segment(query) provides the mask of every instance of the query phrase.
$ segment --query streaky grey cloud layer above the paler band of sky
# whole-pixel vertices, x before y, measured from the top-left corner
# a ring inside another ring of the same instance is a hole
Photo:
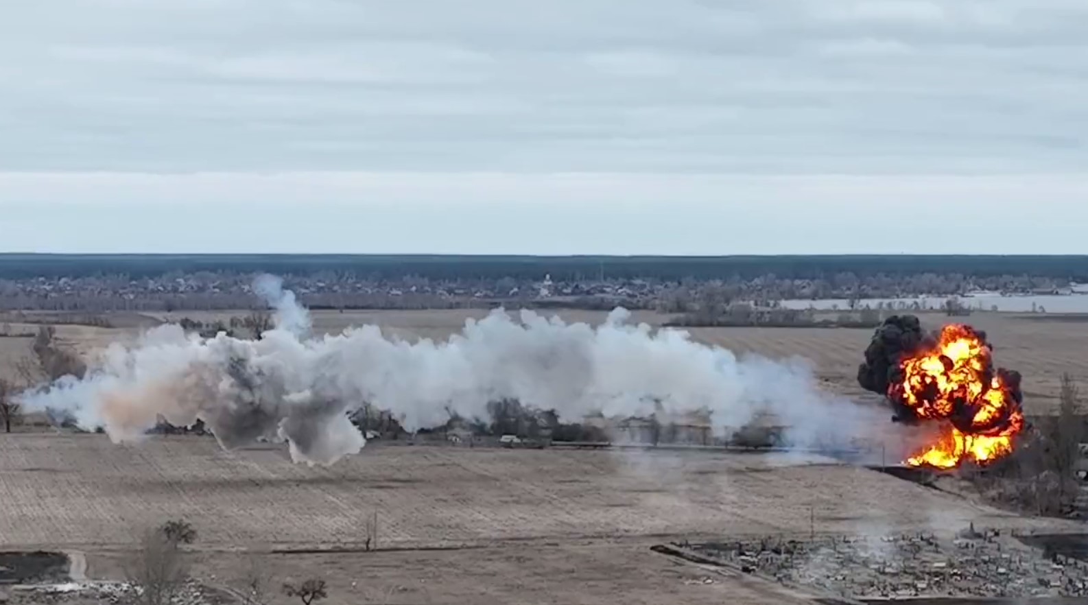
[[[1000,173],[1088,160],[1073,0],[38,0],[0,170]]]

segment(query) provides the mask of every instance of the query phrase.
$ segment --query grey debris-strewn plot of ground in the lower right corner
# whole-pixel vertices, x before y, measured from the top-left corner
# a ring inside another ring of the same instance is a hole
[[[1088,563],[997,531],[764,538],[689,548],[744,572],[850,598],[1088,596]]]

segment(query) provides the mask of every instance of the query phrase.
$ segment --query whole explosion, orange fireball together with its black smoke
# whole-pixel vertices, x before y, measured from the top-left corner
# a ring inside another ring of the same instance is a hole
[[[865,388],[885,393],[895,420],[944,423],[941,437],[910,456],[910,466],[950,469],[990,464],[1012,453],[1024,428],[1019,373],[994,369],[986,333],[951,324],[925,335],[917,318],[891,317],[858,369]]]

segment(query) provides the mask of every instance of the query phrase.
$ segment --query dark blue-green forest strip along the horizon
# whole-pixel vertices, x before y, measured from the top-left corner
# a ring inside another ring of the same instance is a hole
[[[0,254],[0,279],[128,275],[153,277],[171,272],[265,271],[281,275],[318,271],[350,273],[367,279],[418,275],[431,280],[652,279],[680,281],[774,275],[817,280],[839,273],[916,275],[1035,275],[1088,282],[1088,256],[440,256],[440,255],[25,255]]]

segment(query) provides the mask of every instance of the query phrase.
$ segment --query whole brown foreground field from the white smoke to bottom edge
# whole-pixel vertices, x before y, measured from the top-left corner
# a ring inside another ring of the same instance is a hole
[[[88,576],[108,578],[135,529],[184,518],[199,534],[200,577],[230,583],[248,550],[277,579],[326,577],[331,603],[800,604],[808,601],[781,587],[648,546],[954,532],[968,522],[1072,527],[876,471],[765,454],[375,445],[308,468],[282,447],[224,453],[208,437],[118,446],[102,435],[15,434],[0,435],[0,550],[83,552]],[[374,513],[382,552],[361,552]],[[322,550],[342,552],[298,552]]]

